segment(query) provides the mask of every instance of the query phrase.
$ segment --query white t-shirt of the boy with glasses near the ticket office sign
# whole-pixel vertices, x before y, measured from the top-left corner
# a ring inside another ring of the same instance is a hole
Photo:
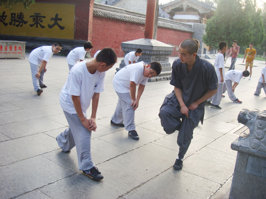
[[[31,51],[29,62],[40,65],[42,60],[48,62],[53,55],[52,46],[41,46]]]

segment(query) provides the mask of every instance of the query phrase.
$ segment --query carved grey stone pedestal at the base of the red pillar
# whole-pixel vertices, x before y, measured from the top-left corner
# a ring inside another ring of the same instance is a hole
[[[128,42],[122,42],[121,47],[125,52],[125,55],[131,51],[136,51],[138,48],[142,49],[143,52],[139,57],[138,62],[143,61],[148,64],[157,61],[161,64],[162,72],[156,77],[149,78],[149,82],[171,79],[172,67],[169,63],[169,56],[173,52],[173,46],[152,39],[137,39]],[[116,68],[116,71],[119,71],[124,66],[125,62],[122,60],[119,68]]]

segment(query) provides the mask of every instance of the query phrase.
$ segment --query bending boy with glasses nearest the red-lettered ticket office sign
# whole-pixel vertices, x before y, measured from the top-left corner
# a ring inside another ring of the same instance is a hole
[[[46,72],[46,64],[51,59],[53,53],[58,53],[62,49],[59,42],[54,43],[52,46],[41,46],[31,51],[29,56],[32,83],[34,91],[40,95],[47,86],[43,83],[43,75]]]

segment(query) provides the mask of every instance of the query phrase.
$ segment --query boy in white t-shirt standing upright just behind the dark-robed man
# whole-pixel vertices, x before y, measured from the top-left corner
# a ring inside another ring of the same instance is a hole
[[[223,53],[227,50],[227,43],[226,42],[220,42],[219,43],[219,49],[220,52],[216,55],[215,61],[214,61],[214,68],[218,77],[218,84],[219,87],[217,89],[217,93],[215,93],[214,96],[209,98],[207,100],[206,105],[210,105],[211,108],[221,109],[219,104],[221,103],[221,99],[223,96],[223,90],[224,90],[224,57]]]

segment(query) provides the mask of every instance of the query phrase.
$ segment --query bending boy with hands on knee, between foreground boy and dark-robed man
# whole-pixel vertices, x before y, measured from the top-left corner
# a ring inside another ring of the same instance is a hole
[[[125,126],[132,139],[140,139],[135,126],[135,110],[149,78],[161,73],[159,62],[145,64],[138,62],[121,68],[113,78],[113,88],[119,99],[116,110],[111,117],[111,124]],[[137,98],[136,86],[139,85]],[[124,122],[124,124],[123,124]]]

